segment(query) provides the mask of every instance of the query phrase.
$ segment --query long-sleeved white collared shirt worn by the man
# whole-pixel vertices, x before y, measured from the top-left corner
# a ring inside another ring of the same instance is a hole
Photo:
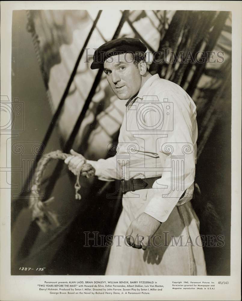
[[[192,198],[197,137],[195,103],[179,85],[155,74],[127,103],[115,156],[87,162],[105,181],[161,176],[144,212],[165,222],[176,205]]]

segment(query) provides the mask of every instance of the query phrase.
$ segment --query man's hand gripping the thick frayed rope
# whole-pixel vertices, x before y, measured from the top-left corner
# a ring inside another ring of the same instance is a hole
[[[94,167],[89,163],[85,163],[86,159],[81,154],[78,154],[73,150],[71,150],[70,153],[72,156],[67,157],[65,163],[68,165],[69,170],[74,173],[74,175],[78,174],[78,171],[81,167],[81,176],[86,176],[89,178],[95,175]]]

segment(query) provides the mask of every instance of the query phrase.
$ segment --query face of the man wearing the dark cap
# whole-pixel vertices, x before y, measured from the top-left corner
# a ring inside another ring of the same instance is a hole
[[[104,62],[104,72],[113,92],[119,99],[129,99],[139,92],[142,76],[133,63],[130,53],[109,57]]]

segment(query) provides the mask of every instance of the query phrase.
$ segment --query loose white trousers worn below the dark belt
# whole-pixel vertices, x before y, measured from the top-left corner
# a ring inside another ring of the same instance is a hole
[[[175,206],[146,250],[127,245],[126,231],[143,212],[152,197],[152,189],[142,189],[138,193],[139,197],[133,197],[132,192],[123,196],[123,210],[105,275],[206,275],[199,220],[191,202]]]

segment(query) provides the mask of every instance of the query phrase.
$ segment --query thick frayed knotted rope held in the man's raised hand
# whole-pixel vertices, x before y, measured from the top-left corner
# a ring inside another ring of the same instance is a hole
[[[59,226],[59,222],[57,219],[57,214],[47,209],[47,206],[54,201],[54,197],[49,198],[46,201],[42,201],[44,194],[42,193],[42,184],[43,184],[43,174],[46,169],[47,164],[52,159],[60,159],[65,160],[67,157],[71,156],[71,154],[65,154],[62,151],[53,151],[48,154],[44,154],[39,160],[36,171],[35,171],[35,185],[32,187],[32,192],[29,199],[29,208],[32,210],[32,220],[36,221],[38,226],[42,231],[46,232],[47,228],[56,228]],[[81,188],[79,177],[81,174],[81,170],[84,166],[87,166],[86,159],[83,158],[84,164],[80,167],[77,173],[77,178],[75,182],[75,198],[76,200],[81,200],[81,194],[79,194],[79,190]],[[89,165],[89,164],[88,164]],[[88,177],[87,172],[87,177]],[[92,174],[91,174],[92,175]]]

